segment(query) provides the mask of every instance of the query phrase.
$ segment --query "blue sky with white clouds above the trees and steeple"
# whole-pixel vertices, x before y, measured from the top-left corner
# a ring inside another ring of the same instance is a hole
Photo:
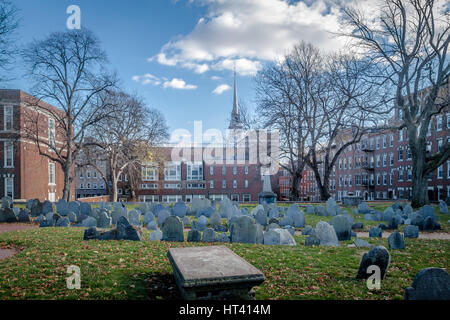
[[[352,2],[356,0],[342,0]],[[368,14],[376,0],[358,1]],[[21,44],[66,28],[66,8],[81,8],[81,25],[107,52],[124,87],[160,109],[171,130],[225,129],[238,93],[255,106],[253,77],[299,41],[335,50],[339,11],[328,0],[13,0],[21,10]],[[20,65],[11,88],[28,90]]]

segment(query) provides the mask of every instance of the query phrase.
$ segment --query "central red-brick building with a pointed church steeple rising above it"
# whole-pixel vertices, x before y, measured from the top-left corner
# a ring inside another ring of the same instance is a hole
[[[258,201],[263,181],[261,167],[251,159],[253,154],[251,154],[250,143],[255,142],[252,141],[255,137],[245,135],[237,101],[235,75],[229,132],[232,137],[239,137],[240,141],[245,141],[242,146],[236,144],[231,151],[223,146],[217,147],[212,155],[214,161],[197,160],[198,157],[195,157],[197,152],[202,155],[207,153],[207,148],[211,146],[186,147],[177,154],[178,160],[172,157],[173,146],[161,147],[158,158],[162,161],[141,164],[140,179],[134,182],[135,186],[133,186],[137,200],[169,203],[178,200],[191,202],[193,198],[207,197],[220,200],[228,197],[240,202]],[[258,139],[259,133],[256,136],[256,144]],[[267,148],[270,152],[270,143]],[[104,191],[101,187],[104,186],[105,181],[98,180],[98,173],[94,177],[94,171],[96,170],[92,167],[83,169],[77,167],[76,193],[78,196],[99,195]],[[130,184],[129,177],[126,174],[121,175],[118,182],[119,199],[130,200]],[[98,188],[94,189],[95,186]],[[272,188],[277,191],[277,175],[272,176]]]

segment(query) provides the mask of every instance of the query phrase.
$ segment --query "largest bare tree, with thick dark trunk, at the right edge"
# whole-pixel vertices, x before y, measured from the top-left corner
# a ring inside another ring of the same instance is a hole
[[[428,203],[428,175],[450,155],[448,141],[436,153],[427,152],[427,130],[449,105],[450,42],[448,7],[434,0],[384,0],[378,15],[365,17],[344,7],[344,35],[354,40],[378,71],[373,81],[392,87],[393,103],[372,109],[400,115],[389,129],[407,129],[412,154],[412,206]]]

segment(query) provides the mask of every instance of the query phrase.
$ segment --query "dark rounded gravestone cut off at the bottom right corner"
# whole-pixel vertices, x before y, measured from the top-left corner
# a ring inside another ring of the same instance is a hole
[[[450,300],[450,275],[440,268],[420,270],[406,288],[405,300]]]

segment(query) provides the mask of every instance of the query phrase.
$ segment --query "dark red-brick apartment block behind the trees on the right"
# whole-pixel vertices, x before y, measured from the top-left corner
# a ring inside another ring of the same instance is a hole
[[[442,89],[448,95],[450,84]],[[398,112],[390,123],[398,122]],[[408,147],[407,129],[373,130],[361,138],[359,143],[349,146],[339,157],[330,177],[330,193],[336,200],[354,195],[366,200],[410,200],[412,197],[412,155]],[[428,128],[427,152],[436,153],[450,142],[450,109],[434,116]],[[312,176],[306,168],[303,177]],[[312,176],[313,177],[313,176]],[[280,177],[280,185],[285,177]],[[320,199],[314,178],[303,179],[301,197],[304,200]],[[284,196],[289,196],[289,185],[283,181]],[[311,191],[313,194],[311,194]],[[430,201],[450,199],[450,159],[429,175],[428,198]],[[315,193],[315,194],[314,194]]]

